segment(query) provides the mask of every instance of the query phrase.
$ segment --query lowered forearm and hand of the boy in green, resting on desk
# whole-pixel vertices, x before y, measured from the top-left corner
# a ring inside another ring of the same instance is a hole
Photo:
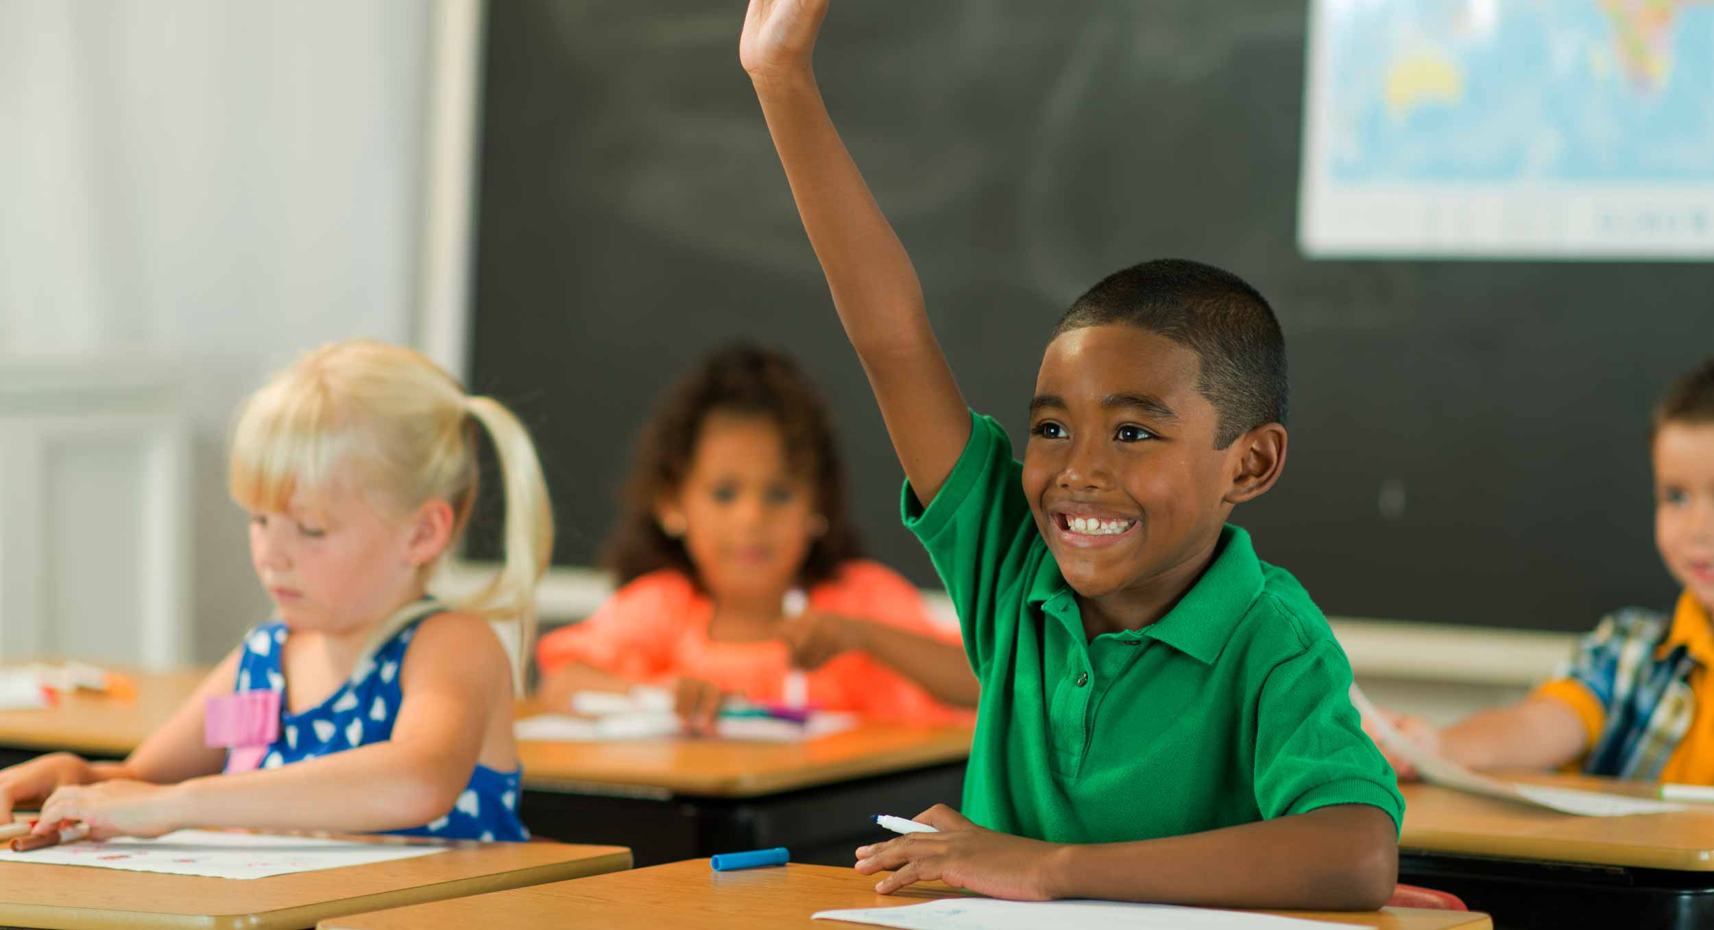
[[[1399,880],[1387,812],[1335,805],[1238,827],[1136,842],[1061,844],[977,827],[944,805],[938,827],[857,849],[857,872],[896,870],[876,891],[939,879],[991,897],[1092,897],[1214,908],[1371,911]]]

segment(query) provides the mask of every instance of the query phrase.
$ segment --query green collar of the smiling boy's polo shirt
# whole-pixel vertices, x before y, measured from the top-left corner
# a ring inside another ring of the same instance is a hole
[[[1119,637],[1159,640],[1212,666],[1226,650],[1239,618],[1250,613],[1250,606],[1262,595],[1262,561],[1250,544],[1250,534],[1243,527],[1227,523],[1220,530],[1220,542],[1215,544],[1208,570],[1167,611],[1167,616],[1140,630],[1126,630]],[[1076,626],[1078,637],[1083,635],[1076,592],[1066,583],[1052,558],[1042,559],[1042,570],[1030,580],[1025,601],[1040,606],[1068,626]]]

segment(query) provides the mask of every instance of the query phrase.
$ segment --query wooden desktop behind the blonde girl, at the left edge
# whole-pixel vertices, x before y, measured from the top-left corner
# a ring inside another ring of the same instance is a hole
[[[137,685],[134,700],[77,691],[63,695],[58,707],[0,710],[0,767],[57,750],[122,758],[166,722],[207,673],[209,669],[125,673]]]

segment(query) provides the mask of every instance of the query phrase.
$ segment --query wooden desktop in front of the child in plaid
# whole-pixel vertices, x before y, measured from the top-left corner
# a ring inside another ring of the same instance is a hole
[[[1657,786],[1594,776],[1508,774],[1560,788],[1654,796]],[[1431,784],[1405,784],[1402,849],[1714,872],[1714,805],[1675,813],[1577,817]]]

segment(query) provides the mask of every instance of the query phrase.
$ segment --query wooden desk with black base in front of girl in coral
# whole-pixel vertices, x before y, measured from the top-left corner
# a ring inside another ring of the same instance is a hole
[[[896,726],[806,743],[519,743],[521,815],[536,836],[631,846],[638,865],[770,846],[850,865],[891,836],[871,813],[958,805],[968,753],[965,728]]]

